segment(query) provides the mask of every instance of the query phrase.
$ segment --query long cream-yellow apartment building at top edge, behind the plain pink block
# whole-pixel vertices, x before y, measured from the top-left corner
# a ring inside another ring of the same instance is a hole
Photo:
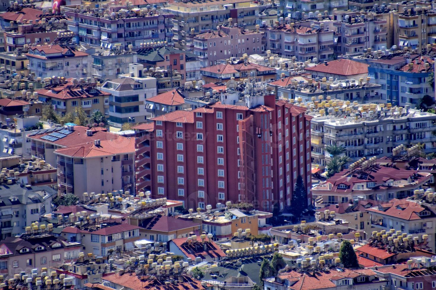
[[[249,0],[184,0],[169,3],[162,11],[174,15],[174,43],[176,47],[185,48],[188,34],[215,30],[217,25],[224,23],[229,23],[230,27],[245,25],[245,29],[254,30],[259,13],[271,6],[269,1],[254,3]],[[236,40],[232,40],[232,44],[235,45]]]

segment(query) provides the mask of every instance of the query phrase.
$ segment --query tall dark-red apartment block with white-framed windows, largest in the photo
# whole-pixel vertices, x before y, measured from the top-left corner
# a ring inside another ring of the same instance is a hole
[[[225,94],[225,95],[224,95]],[[310,117],[275,95],[221,93],[215,103],[177,110],[135,127],[136,188],[187,208],[249,202],[290,205],[298,175],[310,189]],[[310,203],[310,190],[307,190]]]

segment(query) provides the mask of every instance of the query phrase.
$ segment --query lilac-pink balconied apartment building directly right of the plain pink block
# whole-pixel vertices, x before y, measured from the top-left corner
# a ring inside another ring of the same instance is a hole
[[[334,31],[324,29],[324,23],[315,28],[302,23],[277,23],[262,27],[266,49],[283,57],[296,57],[298,61],[313,60],[314,63],[333,60]]]

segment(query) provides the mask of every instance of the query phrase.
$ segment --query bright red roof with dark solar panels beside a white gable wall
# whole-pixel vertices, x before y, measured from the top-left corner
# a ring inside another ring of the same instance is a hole
[[[171,240],[172,243],[178,247],[186,257],[194,260],[196,257],[201,257],[204,259],[209,256],[211,258],[225,257],[225,253],[221,248],[214,242],[205,242],[206,250],[203,247],[196,248],[195,246],[188,245],[187,238],[180,238]],[[206,238],[207,240],[207,238]],[[197,237],[197,242],[201,244],[201,237]]]

